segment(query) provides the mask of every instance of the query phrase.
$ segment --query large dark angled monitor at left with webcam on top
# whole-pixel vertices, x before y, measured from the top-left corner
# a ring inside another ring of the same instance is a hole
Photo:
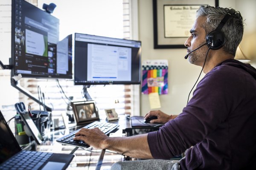
[[[59,20],[12,0],[12,76],[72,79],[72,35],[59,41]]]

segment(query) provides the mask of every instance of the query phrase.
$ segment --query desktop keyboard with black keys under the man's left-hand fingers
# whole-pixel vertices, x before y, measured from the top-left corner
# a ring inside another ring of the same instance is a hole
[[[119,125],[116,125],[113,123],[108,123],[108,122],[95,121],[95,122],[90,123],[89,125],[84,126],[84,128],[87,128],[87,129],[92,129],[94,127],[98,127],[103,133],[108,135],[113,130],[115,130],[117,127],[119,127]],[[69,144],[69,145],[78,146],[78,147],[90,147],[90,145],[88,145],[84,141],[73,140],[76,132],[78,132],[79,130],[76,130],[66,136],[63,136],[63,137],[57,139],[56,141],[60,142],[62,144]]]

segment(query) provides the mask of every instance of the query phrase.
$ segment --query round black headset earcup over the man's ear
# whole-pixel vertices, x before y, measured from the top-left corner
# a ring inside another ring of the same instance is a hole
[[[206,36],[207,46],[212,50],[218,50],[225,43],[224,34],[221,31],[212,31]]]

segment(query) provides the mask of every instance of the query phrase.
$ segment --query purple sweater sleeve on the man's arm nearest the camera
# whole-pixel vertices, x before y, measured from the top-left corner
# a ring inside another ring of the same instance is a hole
[[[201,142],[226,119],[234,89],[230,74],[211,71],[198,83],[192,99],[177,118],[170,120],[158,131],[148,133],[148,144],[155,159],[170,159]],[[231,82],[229,82],[231,81]],[[228,102],[228,103],[227,103]]]

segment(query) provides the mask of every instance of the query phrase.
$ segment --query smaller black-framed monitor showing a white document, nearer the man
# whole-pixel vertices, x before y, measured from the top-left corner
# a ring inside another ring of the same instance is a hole
[[[140,84],[141,42],[75,33],[75,85]]]

